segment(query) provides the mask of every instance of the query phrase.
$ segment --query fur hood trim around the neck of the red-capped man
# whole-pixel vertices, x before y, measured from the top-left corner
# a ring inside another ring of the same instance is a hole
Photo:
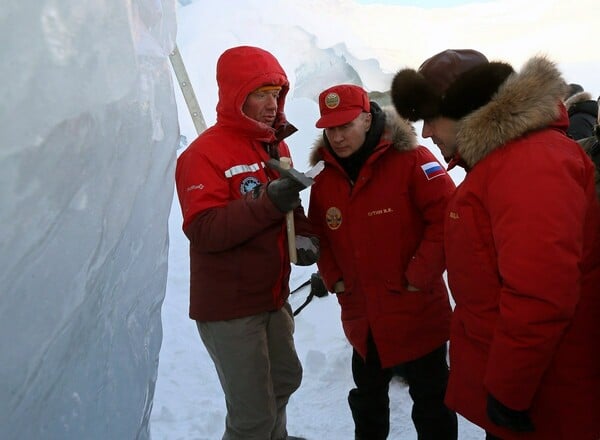
[[[400,117],[400,115],[396,113],[396,110],[391,106],[382,108],[382,111],[385,115],[385,126],[379,145],[391,143],[392,147],[398,151],[408,151],[416,148],[418,146],[417,134],[412,124],[408,120]],[[311,149],[309,155],[309,163],[311,166],[314,166],[320,160],[326,159],[326,157],[330,157],[323,136],[324,132],[315,141]]]

